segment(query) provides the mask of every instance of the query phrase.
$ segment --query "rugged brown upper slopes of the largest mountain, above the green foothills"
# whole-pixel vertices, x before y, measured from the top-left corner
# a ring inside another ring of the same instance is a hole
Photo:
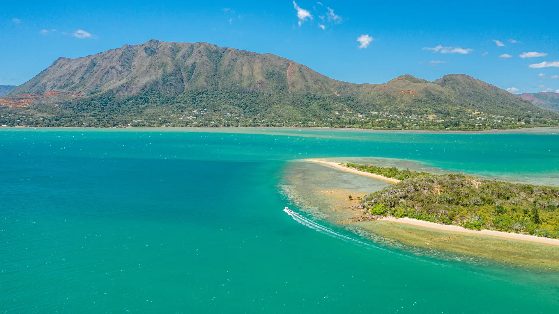
[[[323,92],[339,82],[304,65],[272,54],[195,44],[150,40],[84,58],[59,58],[20,85],[11,95],[59,91],[92,96],[111,91],[135,95],[146,90],[177,95],[185,91]]]

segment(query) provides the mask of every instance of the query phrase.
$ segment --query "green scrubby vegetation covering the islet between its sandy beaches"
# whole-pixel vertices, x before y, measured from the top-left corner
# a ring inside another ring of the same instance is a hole
[[[353,165],[373,169],[391,168]],[[371,215],[559,238],[559,188],[476,178],[472,175],[409,172],[400,183],[363,198]],[[399,172],[390,170],[395,176]],[[380,174],[380,173],[379,173]]]

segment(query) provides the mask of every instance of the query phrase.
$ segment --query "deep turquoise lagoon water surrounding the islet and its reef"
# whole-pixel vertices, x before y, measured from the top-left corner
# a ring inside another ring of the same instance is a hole
[[[295,220],[280,184],[293,159],[375,156],[559,185],[558,140],[2,129],[0,312],[555,312],[556,273],[416,256]]]

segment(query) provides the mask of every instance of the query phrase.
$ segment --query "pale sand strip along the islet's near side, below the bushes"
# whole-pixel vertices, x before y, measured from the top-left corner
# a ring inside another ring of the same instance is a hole
[[[381,221],[405,223],[406,225],[418,226],[418,227],[439,230],[439,231],[449,231],[449,232],[459,232],[462,234],[500,237],[502,239],[519,240],[519,241],[527,241],[533,243],[559,246],[559,239],[549,239],[548,237],[539,237],[533,235],[513,234],[509,232],[501,232],[495,230],[470,230],[460,226],[442,225],[440,223],[417,220],[408,217],[404,217],[404,218],[385,217],[382,218]]]

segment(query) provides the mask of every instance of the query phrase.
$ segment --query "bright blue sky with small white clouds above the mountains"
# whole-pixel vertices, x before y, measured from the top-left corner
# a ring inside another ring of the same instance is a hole
[[[272,53],[354,83],[463,73],[515,93],[559,89],[559,23],[551,1],[3,1],[1,7],[4,85],[26,82],[60,56],[154,38]]]

